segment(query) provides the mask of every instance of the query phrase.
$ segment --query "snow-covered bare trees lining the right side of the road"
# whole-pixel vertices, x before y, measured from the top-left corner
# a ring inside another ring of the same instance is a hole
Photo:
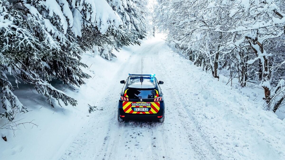
[[[283,53],[272,47],[283,45],[283,9],[284,3],[277,0],[158,0],[156,25],[167,32],[174,51],[211,70],[214,77],[225,68],[242,87],[247,81],[259,81],[271,105],[277,94],[272,95],[271,88],[282,86],[272,79],[284,76],[275,74],[283,68]]]

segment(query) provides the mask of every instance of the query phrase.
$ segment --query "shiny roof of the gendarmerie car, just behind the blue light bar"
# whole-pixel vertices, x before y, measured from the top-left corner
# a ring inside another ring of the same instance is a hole
[[[156,88],[155,77],[129,76],[128,88]]]

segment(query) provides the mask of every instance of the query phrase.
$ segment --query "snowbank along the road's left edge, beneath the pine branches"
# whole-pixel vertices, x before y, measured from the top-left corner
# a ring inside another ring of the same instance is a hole
[[[124,61],[129,57],[127,51],[116,52],[116,59],[107,61],[98,55],[86,53],[82,62],[89,68],[84,69],[91,75],[86,79],[86,85],[80,88],[68,88],[62,82],[53,82],[52,85],[64,91],[67,95],[78,100],[78,105],[63,106],[55,105],[52,108],[46,98],[39,95],[29,85],[15,87],[15,93],[19,100],[27,106],[29,112],[19,114],[18,123],[33,122],[32,124],[19,125],[19,130],[0,130],[7,137],[7,142],[0,140],[0,159],[59,159],[62,152],[78,134],[82,125],[92,114],[88,112],[88,104],[96,105],[104,99],[106,85],[111,84],[112,74],[119,71]],[[13,84],[15,85],[15,84]],[[54,101],[54,104],[57,104]],[[4,119],[0,121],[0,127],[5,124]]]

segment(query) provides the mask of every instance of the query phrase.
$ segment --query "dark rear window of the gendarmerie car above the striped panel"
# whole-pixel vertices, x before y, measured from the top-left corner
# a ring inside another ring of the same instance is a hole
[[[155,90],[141,90],[141,89],[135,89],[130,88],[127,90],[127,95],[129,96],[129,99],[146,99],[146,98],[154,98]]]

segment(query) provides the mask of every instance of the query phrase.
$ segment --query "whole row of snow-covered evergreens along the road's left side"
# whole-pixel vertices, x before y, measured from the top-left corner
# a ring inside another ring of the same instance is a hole
[[[15,77],[17,83],[34,86],[52,106],[52,98],[75,106],[75,99],[49,82],[58,79],[79,87],[90,77],[80,69],[87,67],[80,61],[84,51],[94,50],[110,60],[115,57],[113,49],[140,44],[146,23],[136,4],[141,3],[0,0],[0,93],[4,109],[0,118],[5,116],[11,121],[15,112],[27,111],[13,94],[7,74]],[[122,6],[129,7],[128,12]]]

